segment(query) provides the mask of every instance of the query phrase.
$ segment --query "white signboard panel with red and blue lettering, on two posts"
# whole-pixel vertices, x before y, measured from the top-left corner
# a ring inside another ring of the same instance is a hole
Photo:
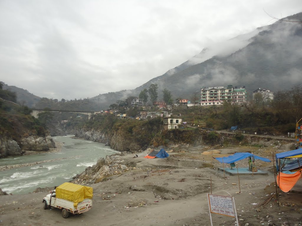
[[[233,200],[231,196],[208,194],[210,212],[235,217]]]

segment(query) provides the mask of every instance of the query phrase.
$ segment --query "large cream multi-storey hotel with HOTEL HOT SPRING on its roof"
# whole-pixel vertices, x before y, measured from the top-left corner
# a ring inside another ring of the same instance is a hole
[[[217,86],[201,89],[201,106],[223,105],[223,102],[242,104],[246,102],[246,88],[237,88],[232,85]]]

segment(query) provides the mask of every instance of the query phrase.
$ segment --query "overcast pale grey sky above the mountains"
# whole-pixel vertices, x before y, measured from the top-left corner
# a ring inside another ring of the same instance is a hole
[[[0,81],[40,97],[134,89],[301,0],[0,0]]]

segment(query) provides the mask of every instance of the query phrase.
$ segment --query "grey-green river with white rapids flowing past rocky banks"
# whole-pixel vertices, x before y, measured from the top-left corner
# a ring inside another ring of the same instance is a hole
[[[37,187],[54,187],[72,180],[98,159],[116,151],[102,143],[72,139],[73,135],[53,137],[63,143],[60,152],[14,156],[0,159],[0,166],[54,160],[33,166],[0,171],[0,188],[12,194],[26,194]]]

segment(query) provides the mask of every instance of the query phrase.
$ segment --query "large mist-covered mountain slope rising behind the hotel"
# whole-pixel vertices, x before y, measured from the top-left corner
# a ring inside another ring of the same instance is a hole
[[[302,13],[284,19],[302,21]],[[173,99],[190,99],[193,92],[199,93],[204,86],[246,86],[249,93],[258,87],[273,92],[289,89],[301,83],[301,40],[302,23],[277,21],[225,42],[214,43],[136,89],[100,94],[90,100],[98,106],[95,110],[103,110],[117,100],[138,96],[153,83],[159,87],[158,100],[162,99],[164,88],[171,91]]]

